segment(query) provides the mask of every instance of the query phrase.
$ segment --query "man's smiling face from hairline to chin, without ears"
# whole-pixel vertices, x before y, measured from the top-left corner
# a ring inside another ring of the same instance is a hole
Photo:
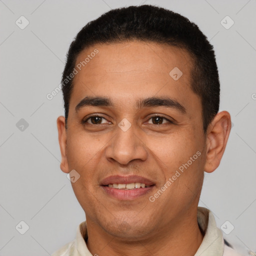
[[[71,183],[74,193],[87,222],[114,236],[132,239],[175,228],[196,212],[205,162],[191,58],[174,46],[133,41],[91,46],[76,64],[95,48],[98,53],[74,77],[69,103],[65,167],[80,175]],[[86,96],[109,102],[76,108]],[[136,181],[150,186],[111,187]]]

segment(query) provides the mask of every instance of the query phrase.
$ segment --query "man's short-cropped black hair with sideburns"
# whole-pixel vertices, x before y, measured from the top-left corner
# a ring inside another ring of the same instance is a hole
[[[219,109],[219,78],[213,46],[198,26],[188,18],[155,5],[128,6],[112,9],[89,21],[71,42],[61,85],[65,111],[65,126],[78,54],[96,43],[117,43],[139,40],[157,42],[185,49],[190,53],[190,86],[201,99],[202,125],[206,133],[208,124]]]

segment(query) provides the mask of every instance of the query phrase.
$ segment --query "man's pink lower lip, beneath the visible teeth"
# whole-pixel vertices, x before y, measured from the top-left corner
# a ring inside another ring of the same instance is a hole
[[[111,195],[119,200],[132,200],[135,199],[141,195],[144,195],[148,193],[153,187],[148,186],[148,187],[140,187],[140,188],[134,188],[134,189],[118,189],[118,188],[112,188],[109,186],[101,186],[104,191],[108,194]]]

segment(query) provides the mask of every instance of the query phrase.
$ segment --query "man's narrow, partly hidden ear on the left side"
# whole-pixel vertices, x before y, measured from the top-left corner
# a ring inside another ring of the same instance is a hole
[[[69,173],[67,158],[66,158],[66,129],[65,129],[65,117],[59,116],[57,118],[57,128],[58,128],[58,143],[61,152],[61,162],[60,169]]]

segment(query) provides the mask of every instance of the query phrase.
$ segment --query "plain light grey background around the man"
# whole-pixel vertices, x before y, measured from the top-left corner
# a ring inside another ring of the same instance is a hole
[[[219,227],[234,226],[227,240],[256,250],[256,0],[0,0],[0,255],[49,255],[75,237],[85,215],[59,168],[62,94],[46,94],[60,83],[82,26],[110,8],[143,3],[188,17],[214,45],[220,110],[233,126],[220,166],[205,173],[199,205]],[[24,29],[15,24],[21,15],[29,21]],[[226,15],[234,21],[229,29],[220,22]],[[21,220],[29,226],[24,234],[15,229]]]

